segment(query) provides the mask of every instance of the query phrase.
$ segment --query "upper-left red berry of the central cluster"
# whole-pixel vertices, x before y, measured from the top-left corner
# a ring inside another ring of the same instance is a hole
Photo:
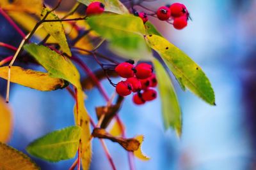
[[[116,73],[123,78],[130,78],[134,76],[134,67],[129,62],[122,62],[115,68]]]

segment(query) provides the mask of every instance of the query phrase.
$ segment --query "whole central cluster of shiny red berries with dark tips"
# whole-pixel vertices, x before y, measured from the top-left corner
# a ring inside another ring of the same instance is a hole
[[[150,88],[157,85],[153,67],[147,63],[140,63],[136,67],[133,64],[133,62],[127,61],[115,67],[115,71],[119,76],[127,78],[127,80],[117,83],[116,92],[120,96],[128,96],[132,92],[136,93],[133,96],[135,104],[144,104],[146,101],[156,99],[156,90]],[[143,91],[141,92],[141,90]]]

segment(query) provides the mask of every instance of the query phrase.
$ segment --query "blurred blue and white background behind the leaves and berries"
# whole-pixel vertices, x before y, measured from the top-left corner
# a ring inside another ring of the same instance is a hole
[[[66,6],[74,3],[63,2]],[[182,92],[175,82],[183,114],[183,132],[179,139],[171,129],[164,131],[159,99],[135,106],[131,96],[126,97],[119,114],[127,136],[144,134],[142,149],[151,158],[148,162],[134,159],[136,169],[256,169],[256,1],[154,1],[145,6],[156,10],[158,6],[174,2],[187,6],[193,19],[188,27],[177,31],[155,18],[150,20],[169,41],[202,67],[211,80],[217,106],[209,106],[189,91]],[[19,35],[2,16],[0,23],[0,41],[19,45],[19,41],[13,41]],[[0,57],[9,53],[0,48]],[[107,81],[102,83],[111,95],[115,89]],[[5,85],[6,81],[0,80],[2,96]],[[97,89],[86,94],[86,107],[96,120],[95,106],[106,103],[98,97]],[[40,92],[13,85],[10,106],[14,127],[9,145],[22,152],[26,152],[26,146],[34,139],[74,124],[74,100],[67,90]],[[127,152],[116,143],[106,143],[117,169],[128,170]],[[43,170],[68,169],[74,162],[74,159],[58,163],[32,159]],[[91,169],[111,169],[99,139],[93,139]]]

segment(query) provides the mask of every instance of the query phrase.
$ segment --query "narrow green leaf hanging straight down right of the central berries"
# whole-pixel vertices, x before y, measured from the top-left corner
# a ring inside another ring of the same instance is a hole
[[[182,115],[175,89],[170,76],[166,70],[164,70],[161,63],[156,59],[153,60],[153,63],[158,81],[158,89],[161,96],[164,127],[166,129],[172,127],[180,136],[182,131]]]

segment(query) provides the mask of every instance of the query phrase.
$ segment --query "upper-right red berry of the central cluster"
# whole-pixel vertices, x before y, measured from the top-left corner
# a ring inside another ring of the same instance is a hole
[[[147,63],[140,63],[136,67],[136,77],[139,79],[145,79],[152,75],[153,67]]]

